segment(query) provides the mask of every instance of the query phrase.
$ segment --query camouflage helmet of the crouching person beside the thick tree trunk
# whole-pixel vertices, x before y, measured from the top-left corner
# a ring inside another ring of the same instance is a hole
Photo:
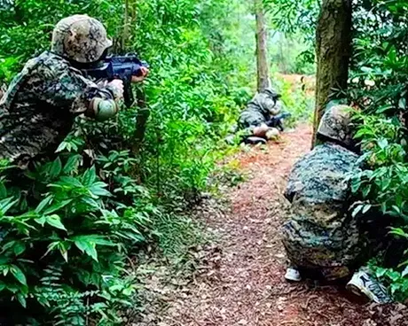
[[[351,108],[348,105],[333,105],[323,115],[318,126],[318,135],[326,136],[340,144],[354,145],[350,127]]]

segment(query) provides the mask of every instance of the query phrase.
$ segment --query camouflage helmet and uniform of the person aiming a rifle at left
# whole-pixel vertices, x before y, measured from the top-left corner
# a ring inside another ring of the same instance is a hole
[[[25,167],[31,159],[57,149],[76,115],[98,117],[98,110],[117,111],[117,90],[99,87],[72,65],[98,60],[112,44],[98,24],[88,16],[61,20],[54,30],[52,52],[29,60],[14,78],[0,100],[0,158]],[[87,34],[89,43],[78,37]]]

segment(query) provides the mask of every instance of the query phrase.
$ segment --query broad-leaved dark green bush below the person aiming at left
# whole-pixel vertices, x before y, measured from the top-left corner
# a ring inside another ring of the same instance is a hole
[[[96,167],[78,168],[80,159],[72,154],[12,176],[12,185],[24,181],[18,189],[9,189],[12,170],[4,170],[0,289],[3,299],[23,307],[35,301],[64,324],[97,316],[100,324],[120,322],[117,313],[134,305],[135,288],[124,269],[129,250],[149,236],[157,210],[127,176],[128,153],[98,158],[105,182]]]

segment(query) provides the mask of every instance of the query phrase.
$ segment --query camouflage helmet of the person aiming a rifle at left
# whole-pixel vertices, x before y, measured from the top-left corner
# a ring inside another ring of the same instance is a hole
[[[51,51],[82,64],[98,61],[111,46],[102,23],[87,15],[61,19],[52,33]]]

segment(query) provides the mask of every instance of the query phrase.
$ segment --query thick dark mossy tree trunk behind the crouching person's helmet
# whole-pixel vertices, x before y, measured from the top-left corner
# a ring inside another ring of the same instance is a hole
[[[316,33],[318,74],[313,145],[333,90],[347,89],[351,57],[352,0],[323,0]]]

